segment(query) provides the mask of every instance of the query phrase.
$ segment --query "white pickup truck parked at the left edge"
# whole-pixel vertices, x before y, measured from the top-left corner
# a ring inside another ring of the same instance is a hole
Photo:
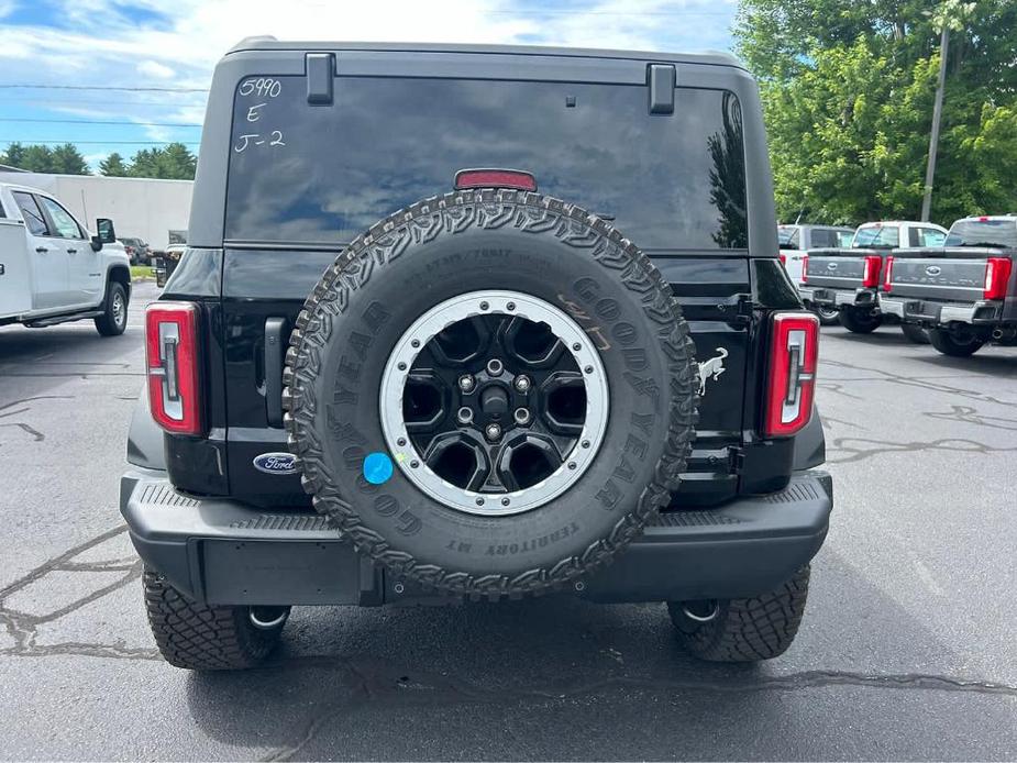
[[[123,333],[130,259],[111,220],[96,229],[91,235],[45,191],[0,184],[0,325],[91,318],[103,336]]]

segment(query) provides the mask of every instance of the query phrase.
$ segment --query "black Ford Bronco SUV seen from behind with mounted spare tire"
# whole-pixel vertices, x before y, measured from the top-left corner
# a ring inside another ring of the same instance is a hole
[[[787,649],[818,321],[737,62],[248,40],[200,156],[121,483],[167,661],[255,665],[294,605],[530,595]]]

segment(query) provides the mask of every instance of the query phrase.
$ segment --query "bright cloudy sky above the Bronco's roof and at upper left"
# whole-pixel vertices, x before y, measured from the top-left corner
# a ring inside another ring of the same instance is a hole
[[[8,82],[207,88],[215,62],[242,37],[280,40],[548,44],[628,49],[720,47],[736,0],[589,0],[582,11],[554,0],[133,0],[157,12],[139,24],[124,0],[54,0],[60,27],[0,24],[0,68]],[[0,0],[0,18],[12,8]],[[25,93],[21,93],[22,96]],[[203,92],[70,93],[53,108],[101,110],[106,119],[200,123]],[[82,102],[86,99],[87,102]],[[168,108],[167,108],[168,107]],[[141,115],[140,115],[141,114]],[[147,134],[146,134],[147,133]],[[197,136],[187,131],[187,140]],[[145,125],[137,139],[181,137]],[[68,137],[74,133],[68,130]]]

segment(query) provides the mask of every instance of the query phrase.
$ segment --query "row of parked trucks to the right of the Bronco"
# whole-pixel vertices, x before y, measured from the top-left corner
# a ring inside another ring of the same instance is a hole
[[[816,230],[843,229],[782,225],[780,243],[803,301],[825,324],[861,334],[899,324],[911,341],[952,356],[1017,343],[1017,215],[964,218],[949,231],[871,222],[847,246],[816,246]]]

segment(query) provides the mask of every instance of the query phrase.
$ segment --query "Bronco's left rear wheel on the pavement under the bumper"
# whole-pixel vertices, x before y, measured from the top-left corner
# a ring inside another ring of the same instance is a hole
[[[289,616],[289,607],[198,604],[147,568],[143,584],[155,643],[166,662],[176,667],[191,671],[254,667],[278,643]]]

